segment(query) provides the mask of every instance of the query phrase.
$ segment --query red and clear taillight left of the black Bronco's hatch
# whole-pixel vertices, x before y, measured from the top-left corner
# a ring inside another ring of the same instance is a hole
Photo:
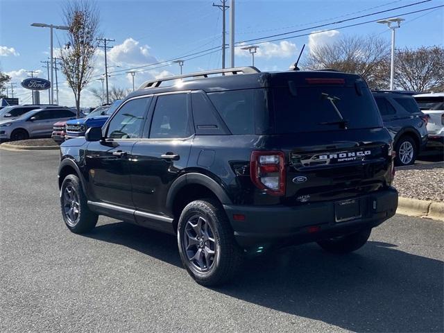
[[[250,177],[253,184],[272,196],[285,194],[285,157],[282,151],[253,151]]]

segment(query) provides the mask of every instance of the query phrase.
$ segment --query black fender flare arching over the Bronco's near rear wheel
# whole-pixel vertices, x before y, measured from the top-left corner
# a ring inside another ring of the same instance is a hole
[[[186,185],[203,185],[210,189],[216,197],[221,201],[223,204],[230,205],[232,204],[232,200],[226,193],[225,189],[216,182],[213,178],[203,175],[202,173],[185,173],[184,175],[178,177],[176,180],[174,180],[173,184],[171,184],[171,187],[169,188],[168,194],[167,194],[167,209],[172,210],[173,209],[173,203],[176,198],[176,194],[185,187]]]

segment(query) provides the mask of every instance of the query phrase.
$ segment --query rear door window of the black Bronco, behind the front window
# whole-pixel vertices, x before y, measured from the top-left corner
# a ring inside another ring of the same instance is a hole
[[[150,137],[188,137],[189,108],[187,94],[171,94],[157,97]]]

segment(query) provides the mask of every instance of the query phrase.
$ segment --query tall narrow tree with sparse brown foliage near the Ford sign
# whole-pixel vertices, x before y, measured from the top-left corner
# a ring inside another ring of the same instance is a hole
[[[61,70],[76,99],[80,115],[80,93],[91,80],[94,52],[99,37],[99,10],[88,0],[67,0],[63,8],[64,22],[69,26],[67,41],[60,47]]]

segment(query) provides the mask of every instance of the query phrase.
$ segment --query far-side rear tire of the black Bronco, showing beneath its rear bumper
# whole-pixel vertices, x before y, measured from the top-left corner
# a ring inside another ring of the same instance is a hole
[[[371,232],[371,229],[361,230],[346,236],[318,241],[318,244],[327,252],[343,255],[364,246]]]

